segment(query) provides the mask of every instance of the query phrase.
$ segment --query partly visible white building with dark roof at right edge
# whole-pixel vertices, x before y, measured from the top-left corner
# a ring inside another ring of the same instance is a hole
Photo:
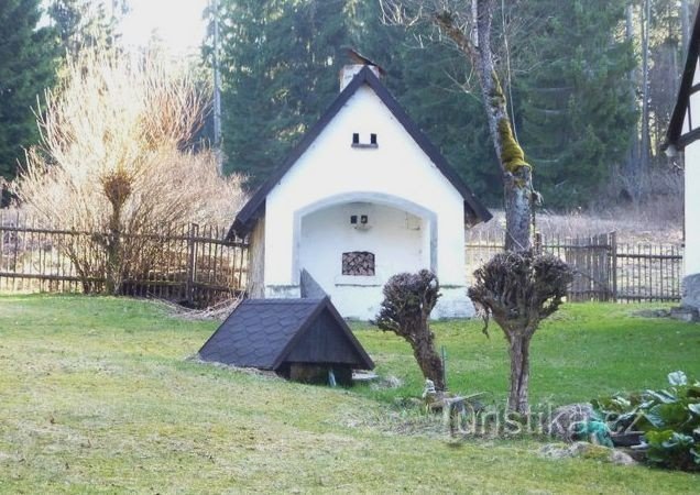
[[[700,12],[688,46],[678,100],[664,148],[685,154],[685,251],[682,306],[700,310]]]

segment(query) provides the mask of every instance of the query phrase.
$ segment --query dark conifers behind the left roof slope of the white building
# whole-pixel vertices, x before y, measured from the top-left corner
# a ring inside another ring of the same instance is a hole
[[[358,0],[222,0],[226,172],[266,179],[338,92]]]

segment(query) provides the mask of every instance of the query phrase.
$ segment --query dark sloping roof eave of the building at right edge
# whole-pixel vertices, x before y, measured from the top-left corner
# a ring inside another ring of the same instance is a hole
[[[666,142],[661,145],[663,150],[666,150],[669,145],[676,146],[678,150],[682,150],[687,144],[700,139],[700,127],[690,129],[685,134],[682,133],[683,121],[688,114],[688,107],[690,105],[690,96],[700,91],[700,85],[692,84],[696,75],[696,68],[698,66],[698,56],[700,55],[700,9],[696,13],[696,21],[692,25],[692,33],[690,35],[690,44],[688,45],[688,55],[686,57],[686,67],[680,79],[680,88],[678,89],[678,99],[674,107],[674,113],[668,124],[668,131],[666,132]],[[700,116],[694,116],[700,123]],[[697,124],[696,124],[697,125]]]

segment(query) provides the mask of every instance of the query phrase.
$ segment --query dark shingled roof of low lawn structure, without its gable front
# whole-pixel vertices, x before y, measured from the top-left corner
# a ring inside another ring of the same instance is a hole
[[[326,297],[322,299],[245,299],[199,350],[204,361],[241,367],[276,370],[294,350],[316,318],[328,311],[337,331],[359,356],[356,367],[374,363]]]

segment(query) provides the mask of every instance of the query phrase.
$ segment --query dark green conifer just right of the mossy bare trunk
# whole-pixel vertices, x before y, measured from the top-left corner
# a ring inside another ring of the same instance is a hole
[[[624,0],[542,0],[521,12],[543,24],[518,55],[519,138],[548,207],[584,204],[623,160],[635,113]],[[546,15],[545,15],[546,14]],[[620,32],[620,36],[615,34]]]

